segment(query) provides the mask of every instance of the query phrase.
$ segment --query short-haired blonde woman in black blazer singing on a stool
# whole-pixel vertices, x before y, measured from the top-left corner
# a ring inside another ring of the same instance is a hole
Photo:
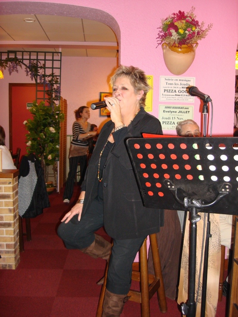
[[[76,205],[63,217],[58,235],[66,248],[108,259],[111,244],[94,232],[105,227],[113,238],[103,317],[120,316],[127,300],[132,263],[146,236],[163,225],[163,210],[142,204],[125,140],[162,134],[158,119],[144,110],[150,87],[145,73],[120,66],[111,78],[111,113],[99,134]]]

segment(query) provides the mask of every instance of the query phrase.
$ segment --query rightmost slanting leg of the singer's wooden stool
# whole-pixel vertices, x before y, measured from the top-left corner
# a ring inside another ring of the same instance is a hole
[[[150,240],[152,258],[153,258],[153,263],[154,263],[155,277],[160,279],[160,287],[157,290],[158,303],[159,303],[160,311],[162,313],[166,313],[167,312],[167,303],[166,303],[166,296],[165,296],[165,291],[164,291],[164,282],[163,282],[163,277],[162,277],[160,255],[159,255],[156,234],[153,233],[153,234],[149,235],[149,240]]]

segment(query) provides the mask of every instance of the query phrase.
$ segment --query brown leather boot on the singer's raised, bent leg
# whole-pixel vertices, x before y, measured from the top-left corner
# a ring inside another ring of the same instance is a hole
[[[94,242],[89,245],[89,247],[80,249],[83,253],[88,254],[94,259],[100,257],[104,260],[109,259],[109,255],[111,252],[111,243],[105,240],[102,236],[99,236],[95,233]]]

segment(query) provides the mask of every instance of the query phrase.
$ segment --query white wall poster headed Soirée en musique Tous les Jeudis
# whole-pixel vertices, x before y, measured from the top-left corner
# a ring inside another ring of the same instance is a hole
[[[160,101],[194,102],[189,86],[195,86],[195,77],[160,76]]]

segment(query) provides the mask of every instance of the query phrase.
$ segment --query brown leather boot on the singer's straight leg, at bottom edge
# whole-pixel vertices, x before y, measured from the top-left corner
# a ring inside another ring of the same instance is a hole
[[[113,294],[106,289],[102,305],[102,317],[119,317],[122,313],[124,304],[128,301],[129,297],[127,294]]]

